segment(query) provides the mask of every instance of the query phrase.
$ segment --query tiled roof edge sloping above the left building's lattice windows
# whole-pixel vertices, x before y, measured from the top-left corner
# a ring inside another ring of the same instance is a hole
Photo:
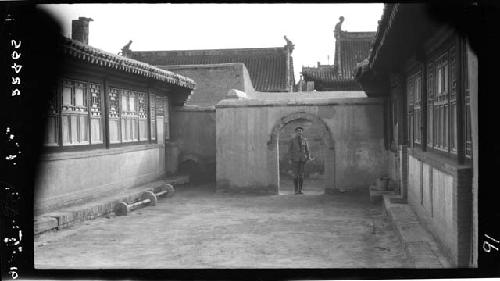
[[[194,81],[190,78],[154,67],[147,63],[108,53],[65,37],[63,38],[63,51],[65,55],[91,64],[121,70],[189,89],[193,89],[195,86]]]

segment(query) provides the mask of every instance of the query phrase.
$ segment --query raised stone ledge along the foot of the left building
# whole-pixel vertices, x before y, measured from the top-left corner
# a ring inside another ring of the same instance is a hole
[[[85,204],[74,205],[58,211],[44,213],[34,218],[35,235],[49,230],[67,228],[75,223],[93,220],[113,213],[114,207],[120,202],[128,204],[140,200],[145,191],[156,191],[158,186],[168,184],[184,184],[189,182],[186,176],[166,178],[153,181],[144,185],[125,189],[113,195]]]

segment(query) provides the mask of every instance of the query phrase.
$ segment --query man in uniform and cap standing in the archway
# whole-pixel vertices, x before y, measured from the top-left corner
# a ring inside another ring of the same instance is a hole
[[[307,139],[302,135],[303,132],[304,129],[302,127],[295,128],[295,137],[290,140],[288,146],[290,162],[293,162],[295,194],[303,194],[304,166],[308,160],[311,160],[309,145],[307,144]]]

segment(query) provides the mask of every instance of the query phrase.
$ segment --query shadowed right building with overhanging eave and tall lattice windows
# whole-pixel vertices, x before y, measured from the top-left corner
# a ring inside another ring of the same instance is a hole
[[[425,5],[386,4],[356,77],[368,96],[385,98],[389,171],[402,198],[455,266],[477,266],[477,57],[467,38]]]

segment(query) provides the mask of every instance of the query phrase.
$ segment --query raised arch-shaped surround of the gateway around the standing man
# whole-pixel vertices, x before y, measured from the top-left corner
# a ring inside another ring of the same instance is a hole
[[[334,188],[335,187],[335,141],[332,136],[332,132],[328,127],[327,123],[321,119],[319,116],[308,113],[308,112],[294,112],[292,114],[286,115],[278,120],[269,136],[267,142],[267,155],[268,161],[271,164],[271,172],[273,177],[274,185],[277,187],[276,193],[279,193],[280,185],[280,175],[279,175],[279,134],[281,129],[285,127],[288,123],[295,120],[307,120],[310,122],[317,122],[321,124],[324,133],[326,143],[326,155],[325,155],[325,179],[324,188]]]

